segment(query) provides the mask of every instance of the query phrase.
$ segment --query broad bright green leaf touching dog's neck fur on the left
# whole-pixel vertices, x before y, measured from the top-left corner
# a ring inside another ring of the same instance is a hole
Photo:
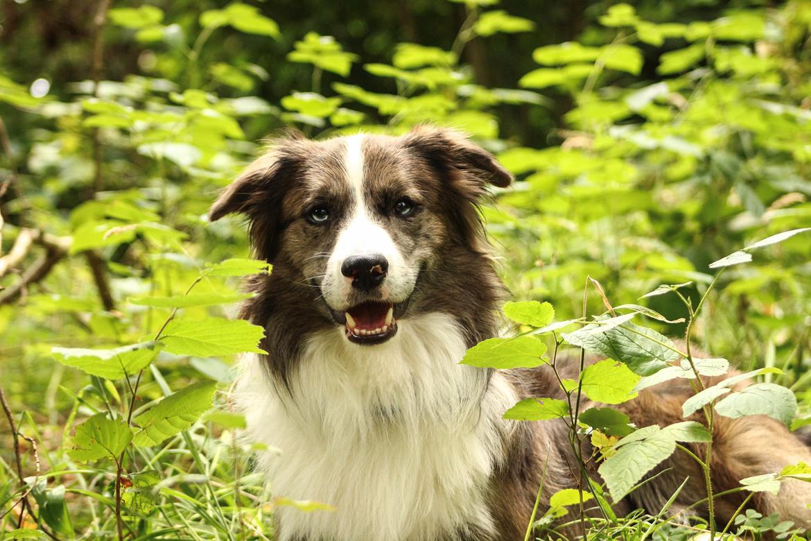
[[[266,353],[257,346],[264,328],[245,320],[209,317],[204,320],[169,321],[160,341],[165,350],[176,355],[213,357],[238,353]]]

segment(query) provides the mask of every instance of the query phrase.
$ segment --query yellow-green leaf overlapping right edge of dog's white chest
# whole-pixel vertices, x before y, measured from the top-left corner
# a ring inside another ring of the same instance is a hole
[[[483,368],[533,368],[545,361],[547,346],[534,337],[489,338],[467,350],[461,364]]]

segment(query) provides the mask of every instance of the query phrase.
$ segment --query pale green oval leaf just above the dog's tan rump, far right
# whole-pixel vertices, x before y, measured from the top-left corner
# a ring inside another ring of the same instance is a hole
[[[715,404],[715,411],[732,419],[768,415],[787,425],[797,414],[797,399],[782,385],[756,383],[723,398]]]

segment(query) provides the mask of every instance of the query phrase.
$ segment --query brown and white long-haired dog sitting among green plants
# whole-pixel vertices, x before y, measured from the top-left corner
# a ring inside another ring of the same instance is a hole
[[[247,217],[255,256],[273,265],[251,278],[255,296],[241,311],[265,329],[268,354],[242,359],[234,388],[249,437],[267,446],[257,466],[274,493],[334,507],[279,507],[278,539],[514,541],[542,478],[541,513],[551,494],[578,487],[562,421],[502,419],[521,398],[560,394],[551,371],[459,363],[503,327],[507,291],[478,204],[512,181],[491,153],[447,129],[286,135],[213,204],[211,221]],[[692,392],[671,382],[621,408],[639,427],[665,426],[683,420]],[[800,440],[763,417],[717,416],[713,449],[716,492],[811,463]],[[674,505],[706,496],[681,451],[649,477],[616,508],[658,513],[684,479]],[[807,525],[809,487],[789,481],[751,505]],[[719,498],[719,522],[742,501]]]

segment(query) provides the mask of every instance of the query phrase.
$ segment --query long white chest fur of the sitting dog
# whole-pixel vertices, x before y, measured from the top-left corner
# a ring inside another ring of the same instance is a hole
[[[281,509],[280,539],[433,540],[474,526],[493,532],[487,479],[503,460],[501,414],[515,397],[501,376],[459,365],[465,341],[449,316],[398,323],[380,346],[342,328],[316,334],[275,389],[259,359],[243,361],[236,390],[260,467],[278,496],[336,511]],[[487,389],[487,390],[485,390]]]

